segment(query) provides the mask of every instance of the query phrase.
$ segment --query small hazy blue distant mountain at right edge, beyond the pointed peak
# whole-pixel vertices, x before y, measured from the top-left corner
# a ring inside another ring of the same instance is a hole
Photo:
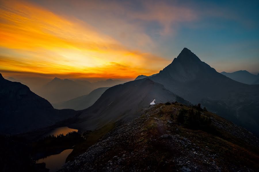
[[[221,72],[221,74],[241,83],[253,84],[257,76],[248,71],[236,71],[233,73]]]

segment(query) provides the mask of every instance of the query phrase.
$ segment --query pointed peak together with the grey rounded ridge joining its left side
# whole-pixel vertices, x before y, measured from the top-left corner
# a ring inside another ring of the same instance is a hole
[[[72,126],[88,130],[111,121],[133,119],[153,98],[161,103],[176,99],[185,104],[186,100],[201,103],[259,134],[259,85],[243,84],[218,73],[187,48],[157,75],[107,89]]]

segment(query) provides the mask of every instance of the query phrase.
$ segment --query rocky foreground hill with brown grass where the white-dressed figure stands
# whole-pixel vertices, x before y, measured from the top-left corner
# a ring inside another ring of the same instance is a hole
[[[179,117],[180,112],[185,113],[184,118]],[[201,125],[190,127],[188,112],[191,114],[191,107],[178,103],[151,106],[60,171],[259,170],[259,144],[253,134],[205,110],[196,121]]]

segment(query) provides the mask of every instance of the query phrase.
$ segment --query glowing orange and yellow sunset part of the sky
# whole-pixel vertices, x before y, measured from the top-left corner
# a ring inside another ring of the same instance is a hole
[[[158,73],[171,60],[99,33],[76,18],[28,2],[2,1],[0,71],[68,78],[135,78]]]

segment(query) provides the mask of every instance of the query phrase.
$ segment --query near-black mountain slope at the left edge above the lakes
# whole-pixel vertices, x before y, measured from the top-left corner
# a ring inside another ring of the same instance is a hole
[[[26,85],[0,74],[0,133],[16,134],[55,124],[72,117],[74,110],[56,110]]]

